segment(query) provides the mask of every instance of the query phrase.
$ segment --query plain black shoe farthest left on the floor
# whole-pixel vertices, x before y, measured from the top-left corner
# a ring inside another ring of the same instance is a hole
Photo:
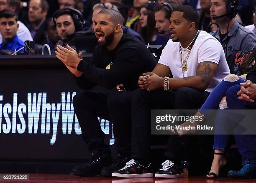
[[[92,158],[88,163],[82,166],[76,166],[72,170],[72,174],[80,177],[91,177],[95,175],[100,175],[100,171],[103,167],[111,165],[112,158],[108,155],[102,155],[97,158]]]

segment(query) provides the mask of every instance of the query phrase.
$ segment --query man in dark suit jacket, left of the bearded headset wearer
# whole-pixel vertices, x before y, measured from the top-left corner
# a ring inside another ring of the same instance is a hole
[[[46,15],[49,5],[46,0],[30,0],[28,5],[28,19],[31,24],[28,29],[35,43],[43,44],[46,42],[44,30],[46,26]]]

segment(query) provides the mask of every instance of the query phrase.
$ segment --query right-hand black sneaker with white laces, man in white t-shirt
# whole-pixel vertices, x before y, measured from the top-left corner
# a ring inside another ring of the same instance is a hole
[[[162,163],[162,168],[155,173],[155,177],[161,178],[181,178],[184,177],[182,167],[166,160]]]

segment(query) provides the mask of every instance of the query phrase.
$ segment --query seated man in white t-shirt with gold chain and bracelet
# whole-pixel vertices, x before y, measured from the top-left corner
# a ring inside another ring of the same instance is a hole
[[[207,32],[198,31],[195,9],[190,6],[174,8],[170,21],[172,40],[164,47],[155,69],[139,78],[141,89],[133,93],[132,160],[112,176],[153,176],[149,160],[151,109],[199,109],[214,87],[230,74],[220,42]],[[169,77],[171,73],[173,78]],[[180,139],[170,136],[167,160],[155,177],[183,177],[181,160],[186,143],[182,144]]]

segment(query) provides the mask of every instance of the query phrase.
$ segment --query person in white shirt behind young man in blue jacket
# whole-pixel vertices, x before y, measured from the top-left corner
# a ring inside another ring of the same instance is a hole
[[[20,10],[20,0],[0,0],[0,11],[2,10],[11,10],[19,14]],[[24,25],[22,22],[18,21],[18,31],[17,36],[21,41],[33,41],[33,38],[31,37],[31,33],[29,32],[26,25]],[[2,42],[2,36],[0,35],[0,43]]]

